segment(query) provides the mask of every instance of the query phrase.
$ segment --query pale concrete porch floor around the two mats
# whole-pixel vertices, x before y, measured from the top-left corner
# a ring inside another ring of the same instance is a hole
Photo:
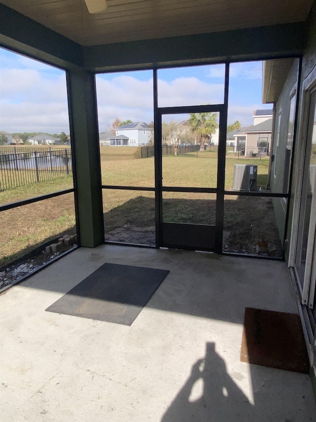
[[[45,311],[105,262],[170,270],[131,327]],[[0,420],[316,421],[308,375],[240,362],[245,307],[297,312],[284,263],[80,248],[0,296]]]

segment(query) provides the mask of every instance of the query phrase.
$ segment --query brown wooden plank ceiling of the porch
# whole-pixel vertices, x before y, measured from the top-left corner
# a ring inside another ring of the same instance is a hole
[[[1,2],[93,46],[305,21],[313,0],[108,0],[108,9],[94,15],[84,0]]]

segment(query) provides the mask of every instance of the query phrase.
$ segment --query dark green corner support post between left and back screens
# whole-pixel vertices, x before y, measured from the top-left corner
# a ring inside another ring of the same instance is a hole
[[[80,245],[95,247],[104,242],[104,226],[94,75],[80,68],[68,71],[67,89]]]

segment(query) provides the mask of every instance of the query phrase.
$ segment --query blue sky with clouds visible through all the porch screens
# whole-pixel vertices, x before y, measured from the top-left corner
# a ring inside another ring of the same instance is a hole
[[[219,104],[224,99],[225,65],[158,70],[158,106]],[[100,132],[121,121],[150,123],[151,70],[96,75]],[[230,66],[228,124],[253,123],[262,104],[262,62]],[[181,121],[187,116],[173,116]],[[0,131],[69,134],[66,74],[63,70],[0,48]]]

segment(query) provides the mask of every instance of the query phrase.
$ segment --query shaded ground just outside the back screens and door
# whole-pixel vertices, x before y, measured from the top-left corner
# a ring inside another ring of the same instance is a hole
[[[214,225],[216,200],[200,199],[201,196],[190,193],[184,199],[170,195],[163,201],[164,221]],[[144,196],[130,198],[112,208],[104,214],[106,241],[154,245],[153,209],[154,198]],[[265,252],[256,249],[256,242],[261,237],[268,239]],[[272,198],[233,195],[225,198],[223,251],[282,257]]]

